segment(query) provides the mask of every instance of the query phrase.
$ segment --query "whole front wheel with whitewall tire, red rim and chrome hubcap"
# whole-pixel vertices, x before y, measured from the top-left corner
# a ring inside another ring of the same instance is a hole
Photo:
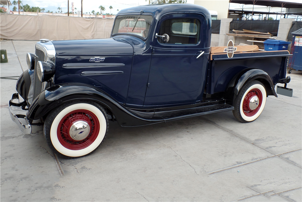
[[[77,158],[91,154],[101,145],[108,125],[107,113],[98,103],[69,102],[47,116],[44,137],[54,153]]]

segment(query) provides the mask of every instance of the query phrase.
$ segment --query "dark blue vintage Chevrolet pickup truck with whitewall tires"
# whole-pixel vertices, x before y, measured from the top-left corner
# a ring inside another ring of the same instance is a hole
[[[128,22],[132,29],[124,28]],[[43,125],[50,149],[76,158],[101,145],[108,121],[133,127],[233,111],[246,123],[259,117],[268,95],[277,97],[277,83],[281,94],[292,93],[288,51],[210,42],[210,13],[190,4],[123,9],[110,38],[41,39],[27,53],[11,118],[27,134]]]

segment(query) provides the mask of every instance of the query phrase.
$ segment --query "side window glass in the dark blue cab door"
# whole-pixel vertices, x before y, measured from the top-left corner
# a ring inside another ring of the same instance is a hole
[[[199,41],[200,22],[197,19],[173,18],[162,22],[158,35],[168,34],[170,39],[164,42],[161,37],[159,43],[166,44],[197,44]]]

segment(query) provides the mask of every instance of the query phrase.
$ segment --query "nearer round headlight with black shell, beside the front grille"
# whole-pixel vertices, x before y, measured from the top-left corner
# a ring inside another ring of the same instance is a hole
[[[56,72],[54,63],[51,61],[38,61],[36,71],[41,82],[48,81]]]

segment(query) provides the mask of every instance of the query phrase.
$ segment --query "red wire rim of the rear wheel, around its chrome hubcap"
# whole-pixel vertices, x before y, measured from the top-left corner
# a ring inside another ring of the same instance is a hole
[[[255,96],[258,97],[259,105],[257,106],[257,108],[252,110],[249,107],[249,103],[250,103],[250,100]],[[246,94],[246,96],[243,100],[243,106],[242,106],[243,113],[248,117],[254,116],[259,111],[261,104],[262,104],[262,92],[258,88],[253,88]]]

